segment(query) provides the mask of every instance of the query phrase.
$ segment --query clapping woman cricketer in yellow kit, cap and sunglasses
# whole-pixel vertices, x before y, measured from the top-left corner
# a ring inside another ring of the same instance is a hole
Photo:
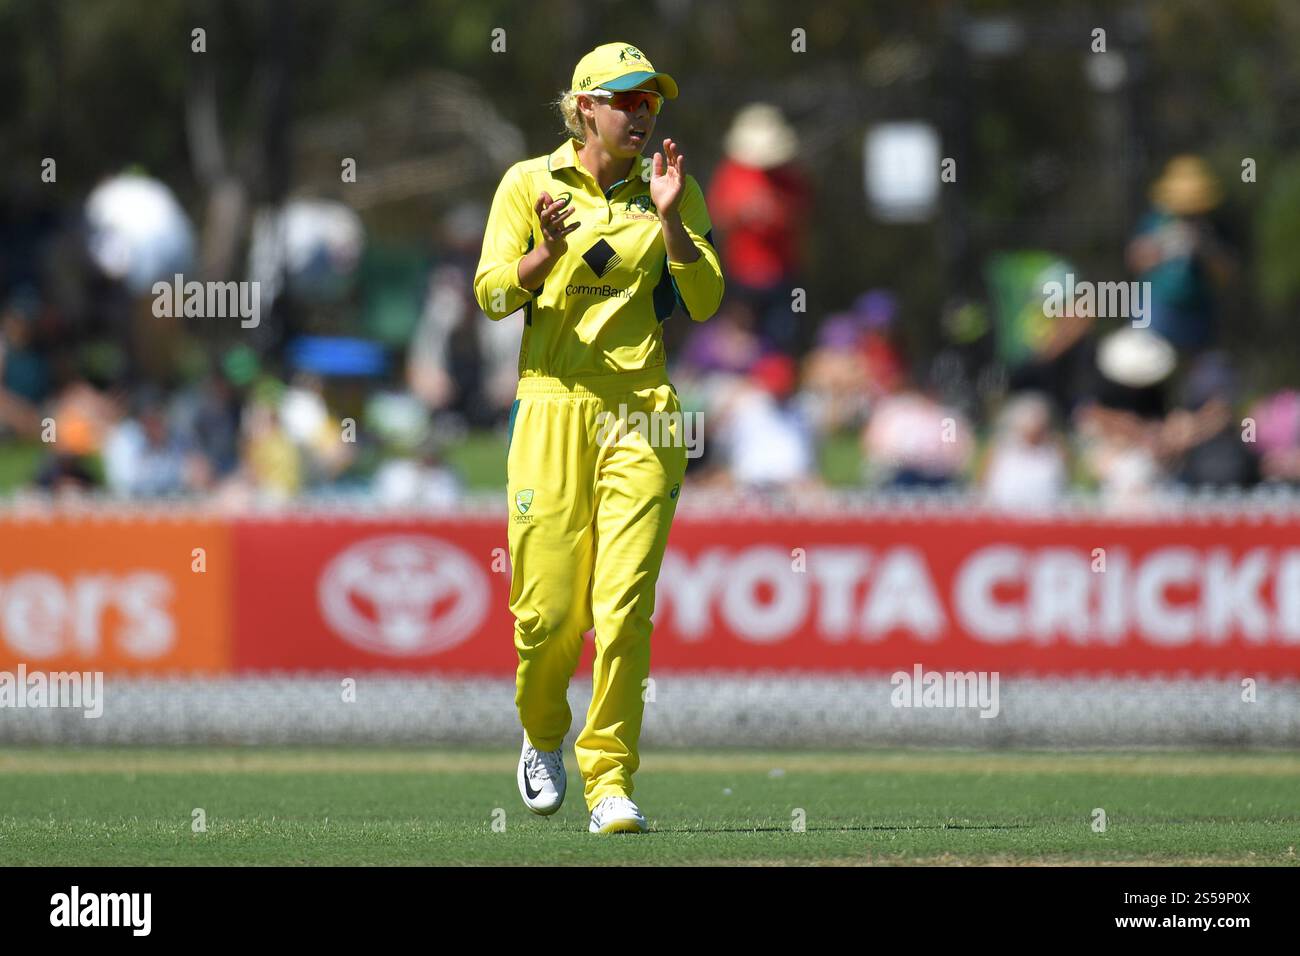
[[[594,627],[592,705],[573,748],[592,832],[646,829],[632,774],[655,580],[686,466],[663,321],[676,304],[702,321],[723,297],[705,196],[676,143],[641,159],[676,96],[633,46],[584,56],[559,101],[571,138],[506,172],[474,273],[490,317],[524,312],[507,454],[519,791],[540,814],[564,800],[567,689]]]

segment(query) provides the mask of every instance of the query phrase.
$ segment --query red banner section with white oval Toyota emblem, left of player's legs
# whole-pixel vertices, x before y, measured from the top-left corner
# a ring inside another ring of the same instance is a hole
[[[234,535],[237,671],[514,672],[504,518]]]

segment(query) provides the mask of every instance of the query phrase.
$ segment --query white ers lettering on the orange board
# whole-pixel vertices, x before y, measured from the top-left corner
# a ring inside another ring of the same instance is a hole
[[[0,641],[32,661],[68,653],[90,657],[103,650],[105,640],[140,659],[160,657],[176,643],[172,596],[172,581],[153,571],[74,575],[66,581],[25,571],[0,579]],[[109,635],[113,607],[121,620]]]

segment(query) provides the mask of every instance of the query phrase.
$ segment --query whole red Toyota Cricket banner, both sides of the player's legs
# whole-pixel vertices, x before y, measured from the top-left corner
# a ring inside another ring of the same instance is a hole
[[[234,533],[237,670],[514,671],[502,522]],[[1300,524],[679,516],[653,661],[1300,676]]]

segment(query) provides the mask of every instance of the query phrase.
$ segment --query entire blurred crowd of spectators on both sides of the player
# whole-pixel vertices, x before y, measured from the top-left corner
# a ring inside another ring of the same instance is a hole
[[[705,454],[690,463],[699,486],[957,488],[1023,510],[1079,490],[1140,503],[1170,488],[1300,481],[1300,389],[1248,388],[1223,334],[1222,293],[1242,263],[1200,159],[1175,157],[1153,179],[1122,250],[1126,274],[1104,277],[1149,284],[1144,321],[1075,303],[1046,316],[1044,282],[1072,267],[1044,251],[991,263],[989,294],[954,298],[933,316],[942,346],[915,354],[906,303],[888,287],[829,313],[803,306],[814,186],[780,111],[744,108],[724,150],[705,186],[728,294],[672,354],[684,406],[702,416]],[[129,498],[343,490],[454,502],[467,486],[455,451],[502,436],[517,373],[521,321],[493,323],[473,303],[485,219],[485,204],[467,202],[439,224],[403,347],[240,337],[231,324],[185,332],[152,313],[148,276],[133,286],[94,221],[10,230],[0,472],[9,486]],[[330,229],[347,233],[339,222]],[[311,278],[355,265],[329,229],[303,243],[281,268]],[[179,263],[185,243],[172,245]],[[152,274],[170,278],[170,261]],[[300,293],[285,282],[268,308]],[[330,294],[346,297],[347,284]]]

